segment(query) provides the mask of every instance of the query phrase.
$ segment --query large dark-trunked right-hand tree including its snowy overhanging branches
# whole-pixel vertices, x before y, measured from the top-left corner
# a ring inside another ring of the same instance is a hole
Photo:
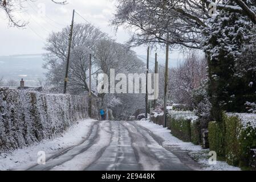
[[[128,43],[137,46],[168,42],[171,48],[204,48],[209,59],[209,96],[214,119],[221,121],[222,110],[245,111],[242,93],[251,84],[245,85],[247,80],[236,77],[235,63],[255,35],[255,0],[118,2],[112,24],[116,28],[131,28],[133,34]],[[213,3],[217,7],[215,14]],[[251,96],[253,89],[247,93]]]

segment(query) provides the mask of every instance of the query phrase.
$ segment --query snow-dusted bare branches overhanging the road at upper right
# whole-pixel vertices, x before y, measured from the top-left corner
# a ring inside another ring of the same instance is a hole
[[[237,13],[256,23],[255,0],[118,0],[112,25],[132,30],[128,43],[201,48],[202,30],[208,27],[213,3],[217,11]],[[166,34],[170,37],[166,40]]]

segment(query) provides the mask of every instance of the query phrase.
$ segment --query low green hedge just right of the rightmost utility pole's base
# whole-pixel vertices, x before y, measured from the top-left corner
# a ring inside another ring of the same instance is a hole
[[[170,131],[174,135],[184,142],[191,141],[191,128],[190,128],[190,119],[184,118],[170,118]]]

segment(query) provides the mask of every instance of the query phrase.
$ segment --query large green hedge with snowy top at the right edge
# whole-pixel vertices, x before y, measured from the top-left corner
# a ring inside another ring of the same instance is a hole
[[[250,149],[256,148],[256,114],[224,114],[227,163],[249,167]]]

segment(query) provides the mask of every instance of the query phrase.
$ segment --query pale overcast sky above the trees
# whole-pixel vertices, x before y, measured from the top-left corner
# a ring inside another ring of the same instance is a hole
[[[48,34],[52,31],[60,31],[71,24],[73,9],[101,31],[111,35],[117,42],[124,43],[129,39],[128,31],[119,27],[119,31],[115,32],[109,26],[109,20],[115,13],[115,3],[115,0],[68,0],[67,5],[56,5],[50,0],[28,1],[24,4],[26,11],[15,12],[18,19],[29,22],[23,29],[9,27],[5,13],[0,10],[0,56],[43,53]],[[75,15],[75,22],[86,23],[78,15]],[[133,48],[138,55],[145,55],[146,49],[146,47]],[[164,50],[160,53],[162,58],[164,58],[163,53]],[[153,55],[155,52],[152,51],[151,56]],[[170,53],[170,57],[181,59],[182,54],[174,51]]]

